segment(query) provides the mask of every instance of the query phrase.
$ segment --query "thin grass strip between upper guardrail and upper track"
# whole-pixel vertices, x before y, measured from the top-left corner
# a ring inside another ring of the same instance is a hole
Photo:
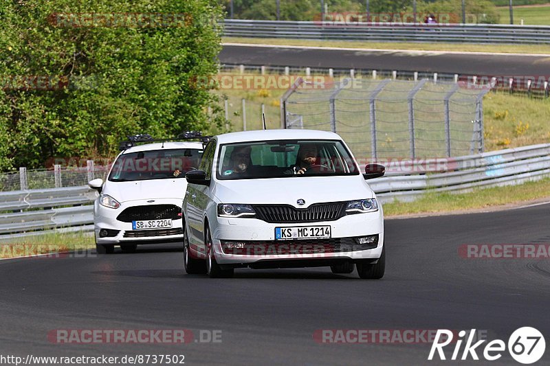
[[[515,16],[514,16],[515,17]],[[550,23],[550,21],[549,21]],[[413,43],[413,42],[362,42],[317,41],[286,38],[223,37],[224,43],[250,43],[252,45],[290,45],[309,47],[342,47],[372,49],[408,49],[417,51],[492,52],[503,54],[550,54],[550,45],[494,45],[471,43]],[[281,65],[284,66],[284,65]]]

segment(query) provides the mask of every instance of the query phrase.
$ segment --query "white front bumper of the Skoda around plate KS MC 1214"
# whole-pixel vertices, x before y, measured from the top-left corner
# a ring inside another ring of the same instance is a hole
[[[335,261],[377,260],[384,244],[381,211],[344,216],[334,221],[274,224],[255,218],[217,218],[212,247],[220,265],[315,266]],[[330,226],[330,239],[276,240],[276,227]],[[375,244],[359,238],[376,236]],[[228,248],[228,245],[230,248]],[[293,265],[294,263],[294,265]],[[287,265],[288,264],[288,265]],[[326,265],[329,265],[326,264]]]

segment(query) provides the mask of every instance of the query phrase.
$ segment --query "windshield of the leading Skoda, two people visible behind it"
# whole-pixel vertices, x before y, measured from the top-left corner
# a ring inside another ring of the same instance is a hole
[[[272,140],[221,145],[217,178],[254,179],[360,174],[339,140]]]

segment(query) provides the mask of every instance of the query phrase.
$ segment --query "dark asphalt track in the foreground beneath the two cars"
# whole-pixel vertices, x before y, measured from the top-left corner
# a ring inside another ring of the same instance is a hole
[[[538,205],[386,220],[380,281],[329,268],[184,275],[182,252],[169,244],[134,254],[3,260],[0,354],[184,354],[186,365],[443,363],[426,361],[429,344],[318,344],[313,334],[322,329],[476,328],[507,343],[516,328],[533,326],[549,345],[550,260],[458,255],[461,244],[549,243],[549,215],[550,205]],[[221,343],[55,344],[47,334],[56,329],[221,330]],[[452,348],[445,350],[450,357]],[[493,364],[519,365],[503,354]],[[549,363],[547,350],[537,365]]]

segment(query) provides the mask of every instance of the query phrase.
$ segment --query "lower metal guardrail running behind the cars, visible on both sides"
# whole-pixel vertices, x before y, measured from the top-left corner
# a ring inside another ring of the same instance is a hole
[[[386,176],[369,181],[382,203],[412,201],[426,192],[471,192],[550,176],[550,144],[445,158],[443,171],[425,160],[389,161]],[[0,240],[57,231],[91,231],[96,191],[87,186],[0,192]]]

